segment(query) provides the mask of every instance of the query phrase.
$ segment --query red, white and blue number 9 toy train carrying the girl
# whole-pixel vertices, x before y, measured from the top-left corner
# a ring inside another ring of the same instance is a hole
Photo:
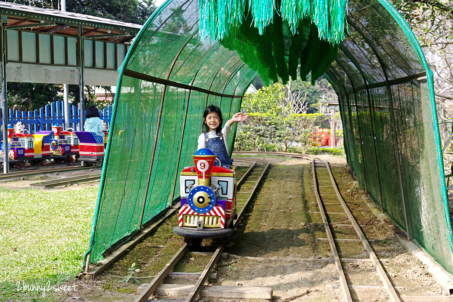
[[[219,238],[233,233],[236,215],[236,172],[214,166],[209,149],[193,155],[194,167],[180,176],[181,208],[173,232],[185,238]]]

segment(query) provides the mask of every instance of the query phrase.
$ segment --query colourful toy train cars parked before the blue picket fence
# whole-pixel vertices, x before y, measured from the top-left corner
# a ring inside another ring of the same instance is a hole
[[[28,134],[22,122],[16,127],[8,125],[10,165],[22,168],[27,162],[45,165],[50,159],[57,163],[70,163],[76,159],[85,165],[101,166],[108,133],[102,137],[92,132],[74,132],[72,128],[63,131],[58,124],[53,125],[52,130]],[[3,162],[3,143],[0,162]]]

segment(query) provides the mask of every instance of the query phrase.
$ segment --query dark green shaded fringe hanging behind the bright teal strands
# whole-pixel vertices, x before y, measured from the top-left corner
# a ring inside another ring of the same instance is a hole
[[[300,77],[306,80],[311,71],[313,84],[337,56],[337,45],[320,40],[316,25],[308,19],[299,21],[297,34],[291,33],[289,24],[279,15],[274,16],[274,22],[262,34],[250,26],[251,22],[251,14],[248,14],[220,43],[235,50],[244,63],[258,72],[266,86],[270,81],[278,82],[279,77],[283,84],[289,76],[295,80],[299,63]]]

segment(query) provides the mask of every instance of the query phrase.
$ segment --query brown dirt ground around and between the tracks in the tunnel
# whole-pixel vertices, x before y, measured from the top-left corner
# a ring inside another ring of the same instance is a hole
[[[270,171],[241,224],[230,238],[232,246],[224,250],[227,256],[217,263],[217,278],[210,279],[209,284],[270,287],[274,292],[274,302],[307,289],[312,292],[293,301],[343,301],[337,268],[331,258],[328,242],[317,239],[326,235],[322,220],[315,213],[319,210],[315,204],[308,160],[261,158],[270,160]],[[337,157],[326,159],[332,160],[331,166],[340,192],[359,225],[364,225],[362,229],[367,238],[374,240],[371,245],[378,258],[383,260],[384,268],[397,292],[406,296],[446,295],[424,266],[395,239],[391,228],[383,225],[366,206],[361,198],[363,192],[345,167],[346,160]],[[164,221],[153,234],[96,280],[75,280],[76,295],[62,298],[61,301],[75,301],[75,296],[87,301],[132,301],[139,284],[118,281],[128,274],[127,268],[135,263],[140,272],[135,273],[134,277],[138,277],[140,283],[149,282],[180,247],[182,238],[171,231],[174,225],[177,225],[177,215]],[[215,244],[206,241],[200,250],[209,252],[214,248]],[[363,248],[344,249],[341,253],[342,258],[366,258]],[[175,271],[200,272],[208,259],[201,254],[186,254]],[[363,276],[372,270],[370,262],[351,260],[343,264],[353,276],[351,279],[358,280],[353,291],[353,297],[356,298],[354,301],[389,301],[381,284],[374,279],[363,280]],[[363,281],[361,285],[358,283],[360,279]],[[72,282],[69,283],[72,285]],[[167,278],[165,283],[185,284],[188,281]],[[377,292],[375,297],[360,298],[369,288]],[[203,300],[226,301],[208,298]]]

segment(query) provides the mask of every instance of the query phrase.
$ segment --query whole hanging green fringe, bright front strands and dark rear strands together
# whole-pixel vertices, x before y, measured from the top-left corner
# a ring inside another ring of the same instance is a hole
[[[313,83],[337,56],[337,45],[344,38],[347,4],[344,0],[313,3],[302,0],[199,1],[200,18],[204,18],[200,19],[200,37],[205,36],[204,30],[212,38],[220,40],[225,48],[235,50],[243,62],[258,72],[266,85],[270,81],[277,82],[279,77],[284,84],[289,81],[289,76],[295,80],[299,64],[302,65],[302,79],[311,71]],[[344,6],[332,13],[329,10],[335,6],[332,3]],[[280,12],[275,8],[281,8]],[[306,15],[317,19],[301,19]],[[333,22],[329,29],[325,21],[334,17],[341,22]],[[337,31],[339,29],[335,29],[334,23],[341,24],[342,30]],[[317,24],[321,24],[323,29],[320,30]],[[331,39],[321,38],[325,36]]]

